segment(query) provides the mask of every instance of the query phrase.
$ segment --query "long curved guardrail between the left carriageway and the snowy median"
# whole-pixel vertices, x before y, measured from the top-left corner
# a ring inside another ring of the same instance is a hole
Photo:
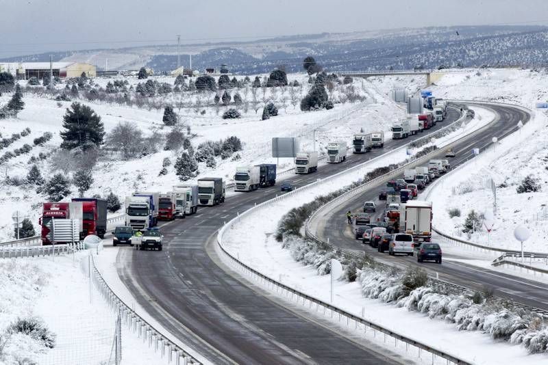
[[[463,116],[461,118],[464,118]],[[402,146],[402,148],[407,148],[407,145]],[[390,153],[390,152],[388,152]],[[218,234],[217,234],[217,245],[219,245],[221,252],[225,254],[227,258],[229,258],[231,264],[236,267],[237,269],[243,271],[244,273],[247,273],[247,275],[250,275],[251,278],[254,278],[258,280],[259,282],[262,282],[268,286],[271,286],[272,288],[275,288],[276,291],[280,291],[282,295],[284,292],[288,295],[289,293],[291,296],[297,297],[297,302],[299,302],[302,299],[302,304],[305,305],[307,302],[310,307],[312,307],[312,303],[316,305],[316,312],[321,307],[324,310],[324,313],[326,310],[329,310],[331,315],[333,313],[337,313],[339,315],[339,318],[341,316],[345,317],[347,319],[347,324],[350,323],[350,321],[353,321],[353,323],[356,324],[356,327],[358,327],[358,324],[364,326],[364,331],[366,331],[367,328],[373,329],[376,332],[381,332],[384,334],[384,336],[389,336],[394,339],[395,344],[397,346],[397,342],[403,342],[406,344],[406,351],[408,351],[409,347],[415,347],[419,351],[419,357],[421,354],[421,351],[426,351],[427,353],[432,354],[432,362],[434,363],[434,360],[436,357],[442,357],[443,359],[447,360],[447,363],[451,362],[452,364],[468,364],[467,362],[464,362],[463,360],[460,360],[458,357],[451,355],[450,353],[446,353],[443,351],[439,351],[437,349],[433,349],[432,347],[429,347],[427,344],[423,344],[422,342],[416,341],[412,338],[407,338],[406,336],[403,336],[401,334],[397,334],[396,332],[390,331],[390,329],[386,329],[382,327],[381,325],[378,325],[377,323],[373,323],[371,321],[366,321],[365,319],[361,318],[360,316],[356,316],[355,314],[351,314],[341,308],[338,308],[336,306],[332,306],[331,304],[325,303],[324,301],[321,301],[321,299],[317,299],[315,297],[312,297],[310,295],[306,295],[305,293],[301,293],[299,290],[295,288],[291,288],[290,286],[287,286],[285,284],[282,284],[280,282],[277,282],[277,280],[270,278],[268,275],[264,275],[263,273],[260,273],[260,271],[253,269],[246,265],[244,262],[240,261],[238,258],[236,258],[234,255],[232,255],[223,245],[223,236],[227,230],[232,229],[234,224],[238,223],[241,219],[247,217],[248,215],[251,215],[252,213],[256,212],[258,209],[264,208],[265,206],[272,204],[273,202],[277,202],[282,199],[287,199],[291,197],[292,195],[296,193],[300,193],[302,191],[306,191],[308,189],[312,189],[313,187],[317,187],[327,180],[332,180],[341,174],[348,174],[349,172],[353,172],[355,170],[358,170],[362,167],[365,167],[367,164],[371,163],[372,161],[384,157],[384,154],[379,157],[375,157],[375,159],[371,159],[370,161],[366,161],[364,163],[360,163],[359,165],[356,165],[354,167],[349,168],[346,171],[339,172],[337,174],[334,174],[332,176],[328,176],[327,178],[321,180],[316,180],[316,182],[311,183],[309,185],[306,185],[304,187],[300,187],[299,189],[296,189],[294,191],[290,191],[284,195],[277,196],[276,198],[272,200],[268,200],[266,202],[262,202],[261,204],[258,204],[256,206],[253,206],[252,208],[248,209],[247,211],[243,212],[242,214],[238,214],[237,217],[234,217],[231,221],[229,221],[225,226],[223,226]],[[421,160],[422,161],[422,160]],[[403,170],[401,170],[403,171]],[[376,179],[373,179],[376,180]],[[373,180],[371,180],[369,183],[372,183]],[[378,180],[377,180],[378,181]],[[440,285],[446,285],[449,283],[441,282]],[[453,286],[454,287],[454,286]],[[385,337],[386,338],[386,337]]]

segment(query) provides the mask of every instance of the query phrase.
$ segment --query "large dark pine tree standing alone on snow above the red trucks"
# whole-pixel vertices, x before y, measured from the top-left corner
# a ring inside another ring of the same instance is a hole
[[[60,133],[63,139],[61,148],[65,150],[88,150],[103,144],[105,129],[101,117],[86,105],[73,103],[71,109],[67,108],[63,117],[63,128],[66,130]]]

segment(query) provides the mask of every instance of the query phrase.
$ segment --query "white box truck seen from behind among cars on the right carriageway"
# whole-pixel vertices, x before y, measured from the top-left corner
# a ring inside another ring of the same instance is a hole
[[[416,242],[432,239],[432,202],[408,200],[399,206],[399,232],[413,235]]]

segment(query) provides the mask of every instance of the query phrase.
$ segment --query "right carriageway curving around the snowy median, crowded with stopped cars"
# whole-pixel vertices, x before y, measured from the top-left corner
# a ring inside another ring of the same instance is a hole
[[[471,150],[473,148],[479,148],[480,150],[488,148],[490,144],[492,144],[493,137],[498,137],[499,140],[506,137],[510,133],[516,131],[516,124],[519,120],[527,122],[530,118],[530,116],[524,111],[521,111],[521,109],[501,106],[488,106],[488,108],[493,109],[493,111],[497,113],[497,118],[499,118],[499,120],[496,124],[496,128],[481,133],[481,135],[473,141],[465,141],[453,148],[456,152],[456,157],[449,158],[451,167],[456,167],[468,160],[471,157]],[[464,171],[461,173],[464,173]],[[360,241],[354,239],[353,232],[351,232],[351,228],[348,226],[346,219],[341,219],[340,217],[344,217],[345,212],[347,211],[360,211],[363,203],[370,200],[377,202],[376,204],[380,209],[377,209],[375,218],[380,217],[380,215],[382,215],[382,210],[384,210],[385,202],[378,201],[379,189],[380,188],[366,191],[345,202],[345,204],[337,206],[333,211],[324,215],[317,223],[317,235],[325,240],[329,237],[329,242],[338,247],[355,250],[356,252],[365,251],[367,254],[375,257],[376,260],[388,265],[402,268],[410,265],[419,266],[429,271],[432,275],[438,273],[441,280],[459,284],[460,286],[473,290],[482,290],[482,288],[487,286],[493,288],[495,290],[495,295],[499,297],[512,299],[527,306],[548,310],[548,290],[546,290],[545,285],[540,284],[539,282],[500,273],[495,270],[475,267],[462,261],[444,260],[442,265],[438,265],[434,262],[419,263],[416,262],[416,257],[388,256],[388,253],[381,254],[377,252],[376,248],[369,245],[362,245]],[[447,199],[450,200],[451,198],[447,197]],[[436,241],[435,235],[433,241]],[[473,256],[471,257],[471,255],[473,255],[473,252],[463,252],[462,256],[454,254],[445,254],[444,256],[445,258],[453,257],[460,259],[474,258]]]

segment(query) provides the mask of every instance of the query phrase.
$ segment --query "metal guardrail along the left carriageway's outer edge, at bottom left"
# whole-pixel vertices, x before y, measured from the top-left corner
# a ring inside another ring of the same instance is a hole
[[[84,261],[84,260],[82,260]],[[190,355],[187,351],[179,347],[167,336],[162,334],[158,329],[155,329],[153,325],[145,321],[139,316],[132,308],[129,308],[127,304],[114,293],[114,290],[108,286],[107,282],[101,276],[99,269],[95,265],[93,254],[90,252],[88,259],[90,265],[91,280],[95,288],[101,294],[101,297],[107,302],[111,310],[120,314],[123,324],[127,326],[134,334],[137,334],[138,338],[142,338],[143,342],[146,342],[149,348],[153,347],[154,351],[160,349],[161,357],[167,357],[169,364],[175,360],[176,365],[187,364],[201,364],[201,362]]]

